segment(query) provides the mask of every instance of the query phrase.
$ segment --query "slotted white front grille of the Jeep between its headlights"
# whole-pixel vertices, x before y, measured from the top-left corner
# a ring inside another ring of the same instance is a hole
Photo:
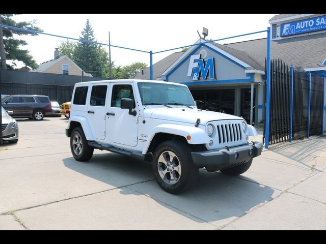
[[[220,124],[216,126],[219,144],[235,143],[242,140],[240,123]]]

